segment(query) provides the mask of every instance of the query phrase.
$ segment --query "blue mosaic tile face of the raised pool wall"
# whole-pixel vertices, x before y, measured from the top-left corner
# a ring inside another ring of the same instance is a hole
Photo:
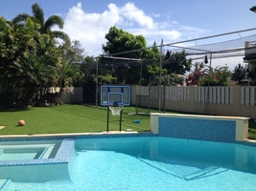
[[[235,120],[159,117],[159,136],[223,142],[236,141]]]

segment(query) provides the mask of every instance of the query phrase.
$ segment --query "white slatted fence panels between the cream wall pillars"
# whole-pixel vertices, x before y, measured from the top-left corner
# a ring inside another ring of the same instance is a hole
[[[157,100],[157,86],[137,86],[136,95],[141,99]],[[162,98],[167,101],[190,101],[189,87],[185,86],[167,86],[161,89]],[[195,102],[218,103],[218,104],[233,104],[234,91],[232,86],[222,87],[195,87]],[[241,86],[241,105],[256,105],[256,87]]]

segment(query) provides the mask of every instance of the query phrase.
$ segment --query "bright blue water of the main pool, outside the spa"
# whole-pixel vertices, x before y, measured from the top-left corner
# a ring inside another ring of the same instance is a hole
[[[10,180],[3,190],[256,190],[256,147],[178,138],[85,138],[76,140],[75,150],[67,179]]]

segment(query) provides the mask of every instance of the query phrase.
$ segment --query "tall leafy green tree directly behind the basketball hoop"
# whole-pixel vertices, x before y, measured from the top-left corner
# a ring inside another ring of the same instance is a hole
[[[105,54],[113,54],[116,57],[125,57],[132,59],[153,58],[151,51],[147,49],[146,39],[143,35],[133,35],[121,29],[111,27],[105,34],[106,44],[103,45]],[[139,84],[142,78],[145,77],[147,66],[140,61],[131,60],[109,60],[102,59],[101,63],[111,65],[114,69],[114,75],[117,77],[117,83]]]

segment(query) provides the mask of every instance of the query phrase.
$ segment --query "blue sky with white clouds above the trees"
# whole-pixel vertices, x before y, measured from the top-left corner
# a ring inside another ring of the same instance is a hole
[[[255,0],[0,0],[0,15],[6,19],[18,13],[32,15],[37,3],[45,19],[58,14],[64,20],[63,32],[79,40],[86,55],[102,54],[105,34],[110,27],[142,34],[147,46],[175,43],[227,32],[256,28],[256,13],[249,9]],[[53,30],[58,30],[55,28]],[[207,40],[190,42],[190,46],[217,43],[256,34],[239,32]],[[188,46],[188,45],[187,45]],[[213,61],[219,65],[224,59]],[[243,63],[243,57],[229,58],[230,66]]]

